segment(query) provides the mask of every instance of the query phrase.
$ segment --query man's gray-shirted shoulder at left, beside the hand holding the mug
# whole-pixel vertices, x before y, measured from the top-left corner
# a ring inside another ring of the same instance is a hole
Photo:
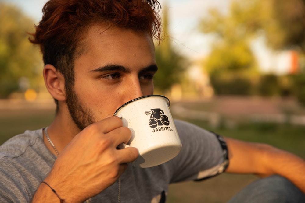
[[[25,131],[0,146],[0,202],[29,202],[49,171],[42,129]],[[50,158],[51,159],[51,158]]]

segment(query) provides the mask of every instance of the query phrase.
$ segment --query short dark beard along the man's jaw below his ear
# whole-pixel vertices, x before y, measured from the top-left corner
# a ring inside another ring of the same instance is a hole
[[[79,100],[74,87],[66,89],[66,104],[76,126],[82,131],[95,121],[93,112]]]

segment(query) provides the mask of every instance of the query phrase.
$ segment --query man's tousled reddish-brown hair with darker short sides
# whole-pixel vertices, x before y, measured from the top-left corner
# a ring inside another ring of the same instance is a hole
[[[49,0],[29,40],[39,44],[44,63],[63,74],[68,91],[74,85],[74,60],[83,53],[81,41],[89,26],[105,23],[144,31],[160,40],[160,9],[157,0]]]

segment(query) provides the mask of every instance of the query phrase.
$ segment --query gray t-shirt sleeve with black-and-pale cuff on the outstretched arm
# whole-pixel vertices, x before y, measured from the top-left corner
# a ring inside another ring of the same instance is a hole
[[[224,139],[194,124],[175,120],[182,143],[180,154],[168,162],[171,182],[204,180],[224,172],[228,150]]]

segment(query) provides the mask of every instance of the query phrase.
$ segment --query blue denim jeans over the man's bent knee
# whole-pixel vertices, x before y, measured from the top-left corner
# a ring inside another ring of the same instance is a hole
[[[249,184],[228,203],[305,203],[305,194],[286,178],[273,175]]]

